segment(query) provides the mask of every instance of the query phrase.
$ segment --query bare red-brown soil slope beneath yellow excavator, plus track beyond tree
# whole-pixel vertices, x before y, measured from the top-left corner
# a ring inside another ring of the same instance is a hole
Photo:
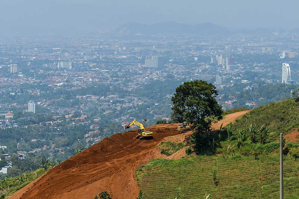
[[[228,124],[247,111],[226,115],[214,124]],[[114,199],[135,199],[139,188],[135,169],[161,157],[156,146],[168,136],[177,135],[178,124],[160,124],[147,127],[154,139],[136,139],[137,129],[117,133],[54,167],[45,175],[28,184],[12,199],[92,199],[103,190]]]

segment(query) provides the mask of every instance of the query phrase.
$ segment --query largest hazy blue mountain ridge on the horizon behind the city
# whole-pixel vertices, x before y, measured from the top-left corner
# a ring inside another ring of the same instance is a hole
[[[114,31],[117,35],[149,35],[159,33],[177,33],[177,34],[228,34],[231,33],[226,27],[212,23],[202,24],[181,24],[173,21],[161,22],[156,24],[126,23],[116,28]]]

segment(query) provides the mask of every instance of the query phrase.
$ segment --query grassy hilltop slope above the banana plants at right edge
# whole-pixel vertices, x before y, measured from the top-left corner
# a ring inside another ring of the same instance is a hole
[[[299,103],[294,98],[289,98],[252,109],[234,122],[233,129],[245,129],[249,135],[250,124],[257,125],[258,129],[266,124],[273,131],[267,141],[278,140],[280,133],[298,129]]]

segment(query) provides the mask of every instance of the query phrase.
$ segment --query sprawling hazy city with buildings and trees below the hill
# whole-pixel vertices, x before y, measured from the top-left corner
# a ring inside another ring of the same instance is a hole
[[[0,37],[0,178],[63,161],[124,132],[171,122],[171,98],[205,80],[223,110],[288,98],[299,82],[298,34]],[[132,126],[132,128],[135,128]]]

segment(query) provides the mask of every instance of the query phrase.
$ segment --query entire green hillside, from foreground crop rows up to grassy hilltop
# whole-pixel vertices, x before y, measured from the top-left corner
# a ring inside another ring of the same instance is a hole
[[[251,142],[249,126],[266,124],[272,132]],[[201,155],[180,160],[156,159],[136,170],[145,199],[279,198],[279,134],[299,127],[299,103],[294,98],[267,104],[242,115],[227,130],[203,137]],[[240,137],[244,129],[245,136]],[[241,130],[241,131],[240,131]],[[284,194],[299,199],[299,144],[284,146]],[[214,171],[214,175],[213,175]],[[217,171],[215,173],[215,171]],[[216,179],[215,179],[216,178]],[[215,184],[218,182],[218,184]]]

